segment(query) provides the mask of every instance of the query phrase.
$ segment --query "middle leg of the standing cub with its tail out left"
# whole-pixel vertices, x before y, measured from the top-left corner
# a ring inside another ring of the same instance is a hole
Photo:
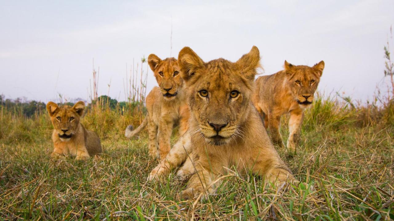
[[[173,120],[162,118],[159,122],[159,158],[164,159],[171,149],[170,139],[173,130]]]

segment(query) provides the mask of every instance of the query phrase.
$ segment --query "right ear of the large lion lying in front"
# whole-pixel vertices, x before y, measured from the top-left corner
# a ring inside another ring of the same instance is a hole
[[[253,46],[249,53],[242,55],[236,62],[241,68],[243,76],[249,80],[254,80],[256,69],[260,67],[260,52],[256,46]]]

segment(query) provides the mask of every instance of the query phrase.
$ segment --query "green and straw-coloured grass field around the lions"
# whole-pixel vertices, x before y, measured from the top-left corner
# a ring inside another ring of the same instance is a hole
[[[297,179],[315,190],[301,185],[275,192],[259,177],[234,173],[208,199],[181,202],[175,196],[184,182],[172,175],[146,181],[158,163],[148,157],[147,132],[134,140],[123,136],[141,115],[87,112],[82,122],[100,135],[104,154],[76,162],[48,157],[53,144],[46,113],[24,118],[2,109],[0,220],[394,219],[392,104],[352,106],[322,97],[305,114],[297,154],[278,149]]]

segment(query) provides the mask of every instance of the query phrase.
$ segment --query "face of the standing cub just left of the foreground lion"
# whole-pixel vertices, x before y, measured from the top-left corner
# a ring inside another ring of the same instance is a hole
[[[162,60],[156,55],[150,54],[148,64],[154,73],[154,77],[156,77],[164,98],[167,100],[174,99],[183,83],[179,74],[177,59],[171,57]]]

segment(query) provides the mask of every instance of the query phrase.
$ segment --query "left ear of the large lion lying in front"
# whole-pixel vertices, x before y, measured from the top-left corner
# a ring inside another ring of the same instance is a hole
[[[204,65],[204,61],[189,47],[184,47],[178,54],[178,64],[182,78],[188,81],[197,68]]]

